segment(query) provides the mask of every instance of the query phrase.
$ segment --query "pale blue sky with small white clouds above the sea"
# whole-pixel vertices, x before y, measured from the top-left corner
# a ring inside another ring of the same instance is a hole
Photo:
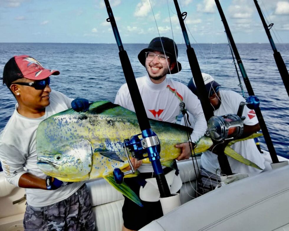
[[[191,43],[227,43],[214,0],[178,0]],[[173,0],[110,0],[122,43],[174,37]],[[289,0],[258,0],[275,43],[289,43]],[[268,43],[253,0],[220,0],[236,43]],[[103,0],[0,0],[0,42],[115,43]],[[275,37],[276,36],[276,37]]]

